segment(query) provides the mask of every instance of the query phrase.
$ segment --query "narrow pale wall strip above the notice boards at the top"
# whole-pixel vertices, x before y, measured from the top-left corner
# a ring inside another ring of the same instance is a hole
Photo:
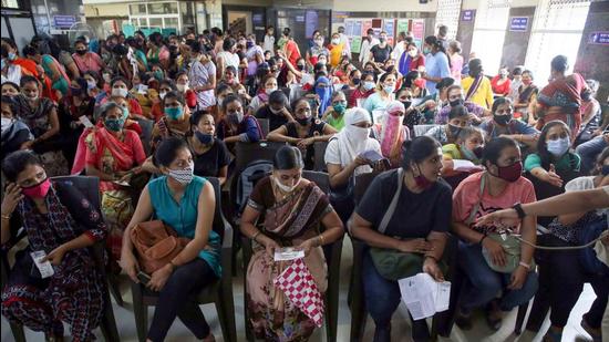
[[[334,11],[349,12],[435,12],[437,1],[420,3],[419,0],[334,0]]]

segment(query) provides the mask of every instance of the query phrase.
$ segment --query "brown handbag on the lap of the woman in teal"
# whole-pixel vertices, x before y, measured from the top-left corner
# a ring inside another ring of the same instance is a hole
[[[178,237],[162,220],[137,224],[131,230],[130,238],[137,250],[140,268],[148,274],[169,263],[190,241]]]

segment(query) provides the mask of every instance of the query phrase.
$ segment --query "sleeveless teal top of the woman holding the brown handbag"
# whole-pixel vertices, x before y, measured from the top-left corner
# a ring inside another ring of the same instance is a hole
[[[197,204],[200,190],[206,182],[207,179],[195,176],[186,187],[179,204],[175,201],[172,190],[167,186],[167,176],[161,176],[148,183],[148,193],[151,194],[155,218],[174,228],[179,237],[193,239],[197,225]],[[221,276],[221,243],[220,236],[214,230],[209,232],[208,245],[213,250],[202,250],[199,258],[207,261],[214,273],[219,278]]]

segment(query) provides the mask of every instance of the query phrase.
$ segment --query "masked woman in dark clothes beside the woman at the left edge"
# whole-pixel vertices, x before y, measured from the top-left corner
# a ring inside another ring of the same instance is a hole
[[[14,97],[16,116],[30,128],[34,139],[25,143],[42,159],[47,173],[53,176],[68,174],[68,162],[60,143],[60,121],[55,104],[40,97],[40,83],[32,76],[21,77],[21,94]]]

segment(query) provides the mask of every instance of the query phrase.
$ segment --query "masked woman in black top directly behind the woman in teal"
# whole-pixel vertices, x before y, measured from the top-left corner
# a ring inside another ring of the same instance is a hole
[[[194,173],[199,177],[216,177],[224,185],[228,176],[230,153],[215,133],[216,124],[210,113],[198,111],[190,116],[187,142],[195,160]]]

